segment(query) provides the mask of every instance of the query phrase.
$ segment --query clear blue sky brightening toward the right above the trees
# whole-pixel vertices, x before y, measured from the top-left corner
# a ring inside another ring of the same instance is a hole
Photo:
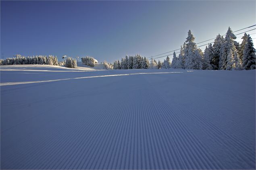
[[[0,54],[150,57],[179,48],[189,29],[200,42],[254,25],[255,2],[1,0]]]

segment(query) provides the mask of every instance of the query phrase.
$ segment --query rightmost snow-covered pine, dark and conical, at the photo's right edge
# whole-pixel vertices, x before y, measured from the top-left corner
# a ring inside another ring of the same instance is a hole
[[[246,70],[253,70],[255,69],[255,49],[253,47],[252,38],[248,35],[246,45],[244,46],[244,53],[243,53],[243,68]]]

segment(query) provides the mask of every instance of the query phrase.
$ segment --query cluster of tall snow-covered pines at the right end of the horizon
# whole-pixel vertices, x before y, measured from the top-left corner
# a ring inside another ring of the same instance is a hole
[[[255,69],[255,49],[252,38],[244,33],[239,44],[229,27],[225,38],[216,36],[213,45],[206,46],[204,53],[197,48],[194,35],[188,31],[188,36],[179,56],[173,53],[172,68],[195,70],[252,70]]]

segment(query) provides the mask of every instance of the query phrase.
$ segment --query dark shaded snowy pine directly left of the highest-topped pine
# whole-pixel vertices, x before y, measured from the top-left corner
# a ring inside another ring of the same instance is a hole
[[[221,46],[223,45],[223,37],[219,34],[216,36],[216,39],[214,40],[214,43],[212,45],[213,48],[213,54],[211,59],[211,65],[213,70],[219,69],[219,62],[221,57]]]

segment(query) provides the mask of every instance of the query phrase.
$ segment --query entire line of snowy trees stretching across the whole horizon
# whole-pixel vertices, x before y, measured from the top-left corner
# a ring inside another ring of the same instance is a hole
[[[111,69],[195,69],[195,70],[252,70],[255,69],[255,49],[252,43],[250,35],[244,33],[242,37],[243,41],[239,44],[235,41],[237,37],[233,34],[233,31],[229,27],[225,38],[220,34],[216,36],[214,43],[209,43],[204,49],[204,52],[197,47],[195,43],[195,37],[188,31],[186,41],[181,45],[179,55],[177,57],[175,51],[173,53],[173,60],[170,61],[167,56],[164,61],[158,60],[158,62],[151,58],[149,62],[146,57],[142,57],[139,54],[135,56],[126,55],[119,60],[115,60],[114,63],[103,62],[104,68]],[[95,59],[93,57],[82,57],[81,61],[87,66],[94,67]],[[12,64],[48,64],[54,66],[66,66],[69,68],[77,67],[77,61],[71,57],[67,58],[67,61],[58,62],[56,56],[49,55],[36,55],[33,57],[15,57],[0,59],[0,65],[12,65]]]

